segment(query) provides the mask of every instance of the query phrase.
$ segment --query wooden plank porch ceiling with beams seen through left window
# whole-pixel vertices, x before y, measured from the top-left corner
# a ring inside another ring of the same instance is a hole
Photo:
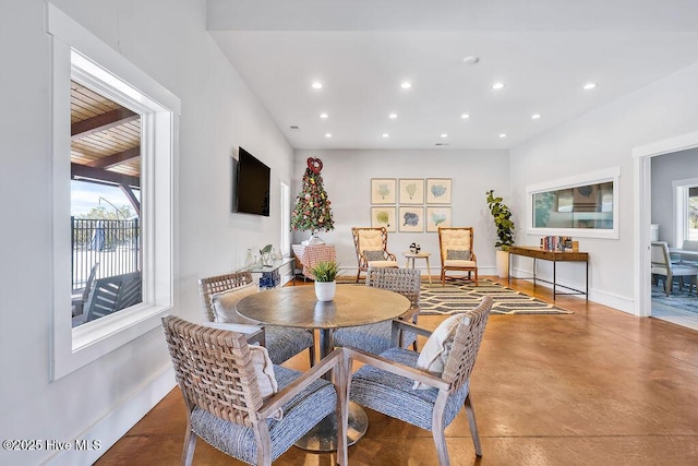
[[[71,81],[71,163],[82,174],[141,176],[141,117]],[[130,183],[132,184],[132,183]]]

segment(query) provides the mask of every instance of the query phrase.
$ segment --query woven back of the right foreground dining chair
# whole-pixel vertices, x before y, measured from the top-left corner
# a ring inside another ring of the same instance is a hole
[[[476,309],[468,312],[470,318],[468,322],[461,322],[456,328],[450,354],[442,375],[446,382],[452,384],[450,393],[458,391],[470,378],[491,310],[492,297],[485,296]]]

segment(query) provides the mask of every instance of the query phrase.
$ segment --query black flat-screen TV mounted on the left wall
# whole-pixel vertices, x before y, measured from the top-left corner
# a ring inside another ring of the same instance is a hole
[[[233,164],[234,167],[236,164]],[[269,216],[270,169],[240,147],[236,174],[236,212]]]

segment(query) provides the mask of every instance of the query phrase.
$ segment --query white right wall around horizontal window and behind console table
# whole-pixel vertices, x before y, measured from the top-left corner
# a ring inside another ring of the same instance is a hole
[[[590,298],[633,312],[637,284],[631,151],[697,127],[698,65],[691,65],[513,148],[510,191],[517,202],[512,208],[520,216],[528,184],[621,167],[619,239],[579,238],[579,247],[590,254]],[[537,244],[539,239],[519,230],[517,243]],[[563,282],[583,286],[581,267],[559,266],[557,272]]]

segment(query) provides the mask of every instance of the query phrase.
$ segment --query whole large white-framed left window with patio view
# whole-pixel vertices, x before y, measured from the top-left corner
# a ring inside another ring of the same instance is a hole
[[[172,180],[180,101],[55,5],[47,3],[47,11],[53,67],[55,380],[156,328],[159,318],[173,304]],[[96,105],[105,107],[99,109],[93,108],[95,101],[82,98],[81,105],[91,108],[92,117],[110,116],[100,117],[105,119],[101,124],[92,120],[80,128],[75,123],[92,118],[71,115],[80,94],[91,95],[93,100],[106,99]],[[121,131],[139,136],[137,146],[125,144],[118,152],[97,154],[95,146],[85,143],[120,126]],[[89,222],[80,231],[75,217],[86,213],[77,206],[79,192],[87,186],[99,186],[97,204],[93,201],[88,216],[103,218],[86,218]],[[125,198],[112,196],[107,188]],[[95,256],[86,261],[91,262],[91,272],[98,263],[98,279],[117,282],[115,277],[137,275],[130,283],[136,290],[135,299],[117,298],[118,312],[73,327],[73,314],[77,312],[71,294],[84,290],[89,277],[75,272],[76,256],[91,253]]]

